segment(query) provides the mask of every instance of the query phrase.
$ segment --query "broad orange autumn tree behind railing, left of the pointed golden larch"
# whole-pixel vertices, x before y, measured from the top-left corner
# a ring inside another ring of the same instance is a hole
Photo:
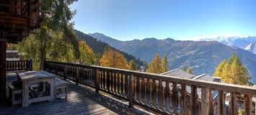
[[[100,65],[110,68],[129,68],[125,57],[120,52],[112,50],[110,47],[105,47],[105,52],[100,58]]]

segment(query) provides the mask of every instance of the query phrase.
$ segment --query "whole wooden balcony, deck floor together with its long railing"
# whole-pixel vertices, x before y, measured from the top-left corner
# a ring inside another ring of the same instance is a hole
[[[121,110],[126,111],[123,114],[152,114],[146,112],[151,111],[158,114],[204,115],[238,114],[238,111],[243,110],[243,114],[255,114],[255,87],[51,61],[45,62],[44,70],[74,83],[69,87],[68,101],[34,103],[28,109],[17,106],[6,107],[0,108],[0,111],[6,114],[13,111],[42,114],[35,110],[49,109],[47,114],[58,113],[58,111],[60,114],[66,112],[90,114],[87,113],[90,111],[122,114],[117,112]],[[213,97],[213,92],[217,92],[217,96]],[[97,100],[97,96],[101,96],[100,103],[93,103]],[[114,101],[103,99],[109,98],[108,96],[122,103],[112,105]],[[96,107],[92,107],[93,105]],[[116,108],[110,108],[111,105]],[[128,109],[134,106],[136,109]]]

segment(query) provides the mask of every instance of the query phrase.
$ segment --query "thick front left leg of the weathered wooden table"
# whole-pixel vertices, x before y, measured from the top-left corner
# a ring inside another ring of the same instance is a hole
[[[28,82],[22,81],[22,107],[28,106],[28,96],[29,96]]]

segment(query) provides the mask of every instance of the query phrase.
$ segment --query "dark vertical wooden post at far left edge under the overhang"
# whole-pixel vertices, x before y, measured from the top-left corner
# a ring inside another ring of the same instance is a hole
[[[6,40],[4,32],[0,32],[0,103],[6,100]]]

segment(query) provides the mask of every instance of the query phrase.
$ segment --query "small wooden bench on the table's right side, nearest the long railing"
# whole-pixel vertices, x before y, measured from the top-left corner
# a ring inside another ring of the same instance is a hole
[[[68,88],[69,82],[65,80],[61,80],[60,78],[56,78],[55,80],[55,86],[56,86],[56,98],[63,98],[65,97],[66,99],[68,98]]]

